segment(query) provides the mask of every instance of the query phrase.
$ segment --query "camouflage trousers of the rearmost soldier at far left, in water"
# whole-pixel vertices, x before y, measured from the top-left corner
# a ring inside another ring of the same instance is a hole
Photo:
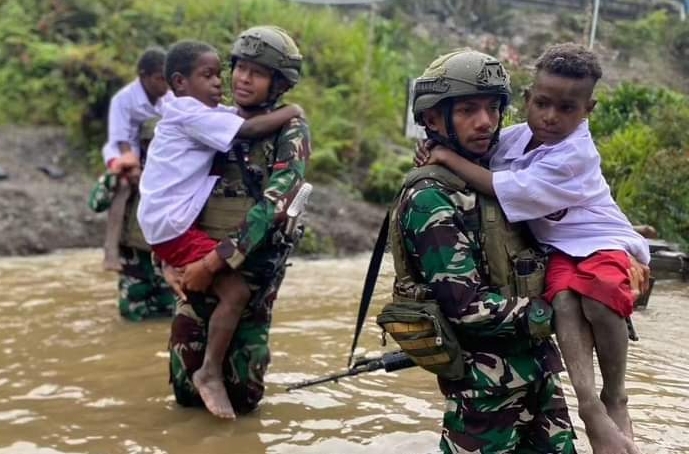
[[[120,246],[118,308],[127,320],[169,317],[175,308],[175,295],[163,279],[160,267],[151,261],[151,253]]]

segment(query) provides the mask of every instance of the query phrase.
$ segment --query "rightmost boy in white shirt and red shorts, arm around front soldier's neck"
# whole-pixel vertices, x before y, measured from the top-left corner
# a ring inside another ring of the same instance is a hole
[[[601,76],[596,56],[582,46],[551,46],[536,63],[527,124],[500,135],[492,174],[443,147],[433,148],[429,162],[496,196],[508,220],[527,221],[549,251],[544,298],[555,310],[558,343],[593,450],[636,453],[624,386],[625,317],[635,299],[630,280],[639,279],[630,256],[647,264],[650,255],[611,196],[588,130]]]

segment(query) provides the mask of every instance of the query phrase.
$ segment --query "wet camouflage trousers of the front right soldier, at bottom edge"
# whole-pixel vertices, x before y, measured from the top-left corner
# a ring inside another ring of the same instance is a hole
[[[499,395],[467,390],[446,400],[443,453],[576,453],[557,375]]]

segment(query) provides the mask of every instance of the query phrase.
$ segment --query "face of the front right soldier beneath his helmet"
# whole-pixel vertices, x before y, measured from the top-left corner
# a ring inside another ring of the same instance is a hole
[[[440,109],[430,109],[426,124],[432,131],[449,137]],[[462,147],[474,154],[488,151],[500,122],[500,97],[497,95],[459,98],[452,106],[452,124]]]

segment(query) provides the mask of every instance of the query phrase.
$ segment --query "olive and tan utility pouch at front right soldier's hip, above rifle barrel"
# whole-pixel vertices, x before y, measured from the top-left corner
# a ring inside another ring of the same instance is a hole
[[[464,377],[464,359],[452,325],[434,301],[396,300],[376,318],[383,343],[390,334],[416,365],[448,379]]]

